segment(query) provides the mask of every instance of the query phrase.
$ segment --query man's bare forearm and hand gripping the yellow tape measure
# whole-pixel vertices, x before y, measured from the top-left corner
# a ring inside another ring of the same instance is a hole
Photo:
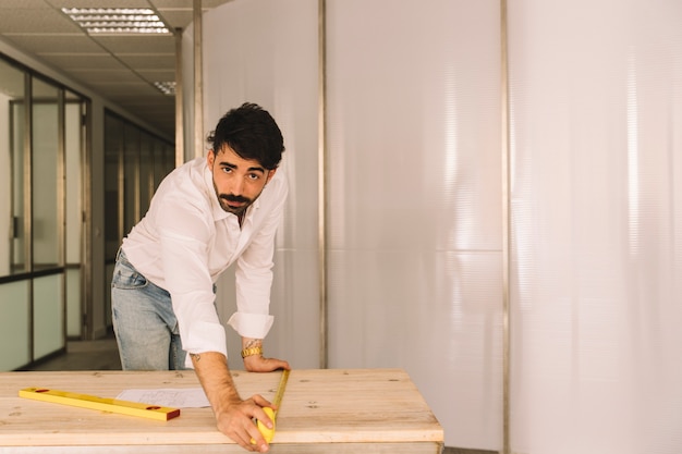
[[[272,421],[263,410],[263,407],[273,406],[257,394],[246,401],[240,398],[224,355],[217,352],[205,352],[190,356],[204,392],[206,392],[206,397],[208,397],[216,415],[218,430],[246,451],[267,452],[269,450],[268,443],[254,424],[254,418],[264,422],[266,427],[272,428]],[[252,439],[255,444],[252,444]]]

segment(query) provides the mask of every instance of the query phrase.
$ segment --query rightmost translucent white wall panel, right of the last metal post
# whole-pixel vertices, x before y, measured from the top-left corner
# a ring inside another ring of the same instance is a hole
[[[682,452],[682,2],[510,1],[512,450]]]

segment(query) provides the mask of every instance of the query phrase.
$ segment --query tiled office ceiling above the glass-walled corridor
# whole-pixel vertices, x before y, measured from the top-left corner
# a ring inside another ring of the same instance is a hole
[[[203,0],[204,11],[230,0]],[[155,82],[175,81],[173,35],[88,35],[62,8],[149,8],[171,29],[193,21],[193,0],[1,0],[0,36],[174,137],[175,100]]]

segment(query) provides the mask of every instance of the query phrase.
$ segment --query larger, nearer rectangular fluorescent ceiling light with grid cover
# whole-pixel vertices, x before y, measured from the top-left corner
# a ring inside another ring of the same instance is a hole
[[[62,8],[89,34],[166,34],[168,26],[148,8]]]

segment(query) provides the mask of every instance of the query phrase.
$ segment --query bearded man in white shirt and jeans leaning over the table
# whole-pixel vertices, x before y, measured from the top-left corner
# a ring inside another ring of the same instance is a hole
[[[283,139],[267,111],[244,103],[208,140],[207,157],[171,172],[123,240],[111,284],[113,328],[123,369],[194,368],[218,429],[247,451],[266,452],[252,418],[271,427],[263,410],[271,404],[260,395],[243,401],[234,388],[215,282],[235,263],[238,311],[228,323],[242,336],[245,369],[289,369],[263,356],[272,324],[275,233],[288,193],[277,172]]]

